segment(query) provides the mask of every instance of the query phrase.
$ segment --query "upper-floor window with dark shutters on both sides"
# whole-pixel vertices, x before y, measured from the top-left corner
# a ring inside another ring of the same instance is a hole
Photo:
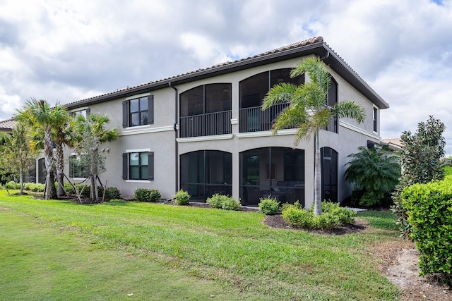
[[[129,97],[122,102],[122,127],[154,123],[154,96],[149,94]]]

